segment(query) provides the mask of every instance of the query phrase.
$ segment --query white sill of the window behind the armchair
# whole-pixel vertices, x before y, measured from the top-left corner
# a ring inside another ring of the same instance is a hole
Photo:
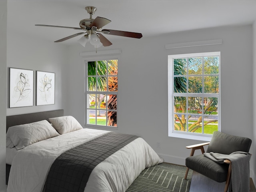
[[[192,139],[192,140],[199,140],[199,141],[210,141],[212,138],[212,135],[202,135],[202,134],[196,134],[196,133],[186,133],[186,132],[169,132],[169,137],[176,137],[176,138],[184,138],[184,139]]]

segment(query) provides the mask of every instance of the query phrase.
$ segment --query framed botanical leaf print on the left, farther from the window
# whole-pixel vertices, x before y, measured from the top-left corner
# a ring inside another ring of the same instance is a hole
[[[34,71],[10,68],[10,108],[34,105]]]

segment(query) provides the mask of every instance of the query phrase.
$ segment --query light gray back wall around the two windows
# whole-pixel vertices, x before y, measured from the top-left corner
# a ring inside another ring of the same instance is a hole
[[[164,48],[165,44],[214,39],[222,39],[223,43]],[[118,62],[119,132],[142,136],[166,162],[184,164],[190,154],[185,146],[200,141],[168,137],[168,54],[220,51],[221,130],[253,139],[251,25],[177,32],[139,40],[120,38],[112,43],[102,50],[120,48],[122,51]],[[78,52],[93,49],[78,45],[69,50],[67,70],[72,78],[68,80],[70,100],[66,112],[84,124],[84,62]],[[161,148],[156,148],[156,142],[161,142]],[[251,164],[254,162],[252,157]]]

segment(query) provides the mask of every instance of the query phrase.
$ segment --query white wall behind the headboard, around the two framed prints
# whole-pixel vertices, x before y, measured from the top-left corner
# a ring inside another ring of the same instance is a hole
[[[12,23],[12,17],[8,17],[8,23]],[[27,34],[14,33],[8,28],[7,32],[8,88],[10,67],[34,70],[34,106],[9,108],[7,89],[7,116],[64,108],[66,76],[63,69],[67,64],[67,48]],[[55,73],[55,104],[36,106],[36,70]]]

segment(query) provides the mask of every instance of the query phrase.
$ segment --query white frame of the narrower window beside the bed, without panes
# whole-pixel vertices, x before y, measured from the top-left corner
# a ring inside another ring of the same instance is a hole
[[[110,130],[118,130],[118,91],[117,92],[113,92],[113,94],[116,94],[117,97],[117,126],[103,126],[103,125],[93,125],[93,124],[88,124],[87,122],[89,121],[89,116],[87,114],[87,94],[110,94],[111,92],[90,92],[87,90],[88,88],[88,72],[87,72],[87,62],[90,61],[102,61],[102,60],[118,60],[118,66],[119,66],[119,62],[120,62],[120,56],[118,55],[113,55],[113,56],[100,56],[100,57],[90,57],[90,58],[86,58],[84,59],[84,96],[85,96],[85,103],[84,103],[84,124],[86,127],[92,127],[92,128],[100,128],[100,129],[110,129]],[[119,72],[118,72],[119,73]],[[118,77],[118,74],[117,74]],[[119,84],[118,84],[119,86]]]

